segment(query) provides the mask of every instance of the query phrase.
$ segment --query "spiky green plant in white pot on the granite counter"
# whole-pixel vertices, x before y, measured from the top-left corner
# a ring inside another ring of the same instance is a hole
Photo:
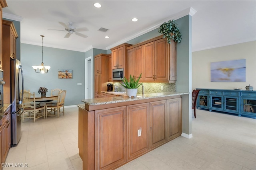
[[[129,81],[125,77],[124,77],[124,79],[121,78],[121,80],[124,84],[122,84],[121,82],[120,82],[120,84],[125,88],[126,95],[129,96],[129,98],[131,96],[136,96],[138,87],[140,87],[142,84],[142,83],[139,83],[141,75],[142,74],[140,74],[140,76],[137,80],[136,80],[136,77],[132,76],[132,75],[130,75]]]

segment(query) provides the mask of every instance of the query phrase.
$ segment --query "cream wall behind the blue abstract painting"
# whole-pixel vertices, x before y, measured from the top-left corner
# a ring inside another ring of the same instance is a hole
[[[246,59],[246,82],[211,82],[210,63]],[[256,90],[256,41],[192,53],[192,89],[233,89],[248,86]]]

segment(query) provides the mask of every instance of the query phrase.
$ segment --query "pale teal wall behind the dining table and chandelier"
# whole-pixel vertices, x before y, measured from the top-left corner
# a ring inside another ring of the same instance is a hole
[[[50,66],[47,74],[35,73],[32,66],[42,62],[42,46],[21,44],[21,63],[24,72],[24,88],[38,94],[38,88],[67,90],[65,106],[82,104],[84,99],[84,53],[64,49],[44,47],[44,65]],[[58,69],[73,70],[72,79],[58,79]],[[78,86],[77,83],[82,83]]]

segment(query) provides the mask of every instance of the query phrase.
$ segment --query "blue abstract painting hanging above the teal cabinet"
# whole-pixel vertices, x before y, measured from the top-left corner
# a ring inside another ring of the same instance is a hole
[[[211,63],[211,82],[245,82],[246,59]]]

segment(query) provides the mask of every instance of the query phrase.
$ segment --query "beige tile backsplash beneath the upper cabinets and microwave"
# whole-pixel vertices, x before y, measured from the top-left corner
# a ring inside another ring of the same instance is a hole
[[[175,83],[145,83],[144,82],[143,85],[144,85],[145,94],[176,91]],[[114,86],[117,88],[118,92],[125,92],[125,88],[121,86],[120,82],[114,82]],[[161,86],[163,86],[163,90],[161,90]],[[138,94],[142,94],[142,86],[138,88]]]

